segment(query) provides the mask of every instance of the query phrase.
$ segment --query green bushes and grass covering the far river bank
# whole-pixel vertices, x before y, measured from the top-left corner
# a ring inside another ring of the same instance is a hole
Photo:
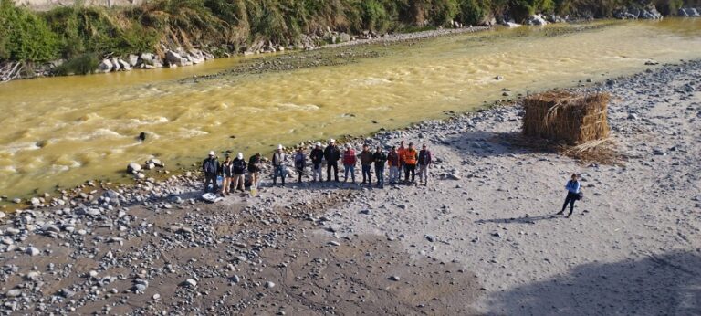
[[[701,0],[649,0],[665,14]],[[479,25],[493,16],[517,22],[535,13],[612,16],[638,0],[152,0],[130,7],[59,6],[47,12],[0,0],[0,60],[68,60],[59,71],[88,73],[109,54],[163,47],[240,51],[253,41],[294,44],[327,28],[361,34]]]

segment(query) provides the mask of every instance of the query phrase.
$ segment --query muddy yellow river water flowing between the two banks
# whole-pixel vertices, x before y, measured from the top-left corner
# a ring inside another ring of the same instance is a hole
[[[277,143],[398,128],[503,98],[502,88],[517,94],[569,87],[641,71],[649,59],[701,58],[701,19],[565,34],[551,31],[574,26],[549,27],[377,47],[380,58],[349,65],[200,82],[178,79],[241,59],[0,84],[0,195],[123,180],[127,163],[152,156],[173,168],[209,150],[248,156]],[[140,132],[148,135],[144,142]]]

